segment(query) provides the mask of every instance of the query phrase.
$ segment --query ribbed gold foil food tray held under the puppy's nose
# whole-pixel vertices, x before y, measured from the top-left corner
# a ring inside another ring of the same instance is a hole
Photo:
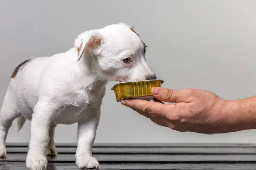
[[[116,102],[122,99],[143,99],[152,100],[154,96],[151,91],[154,87],[161,87],[163,80],[145,80],[137,82],[121,82],[111,88],[115,92]]]

